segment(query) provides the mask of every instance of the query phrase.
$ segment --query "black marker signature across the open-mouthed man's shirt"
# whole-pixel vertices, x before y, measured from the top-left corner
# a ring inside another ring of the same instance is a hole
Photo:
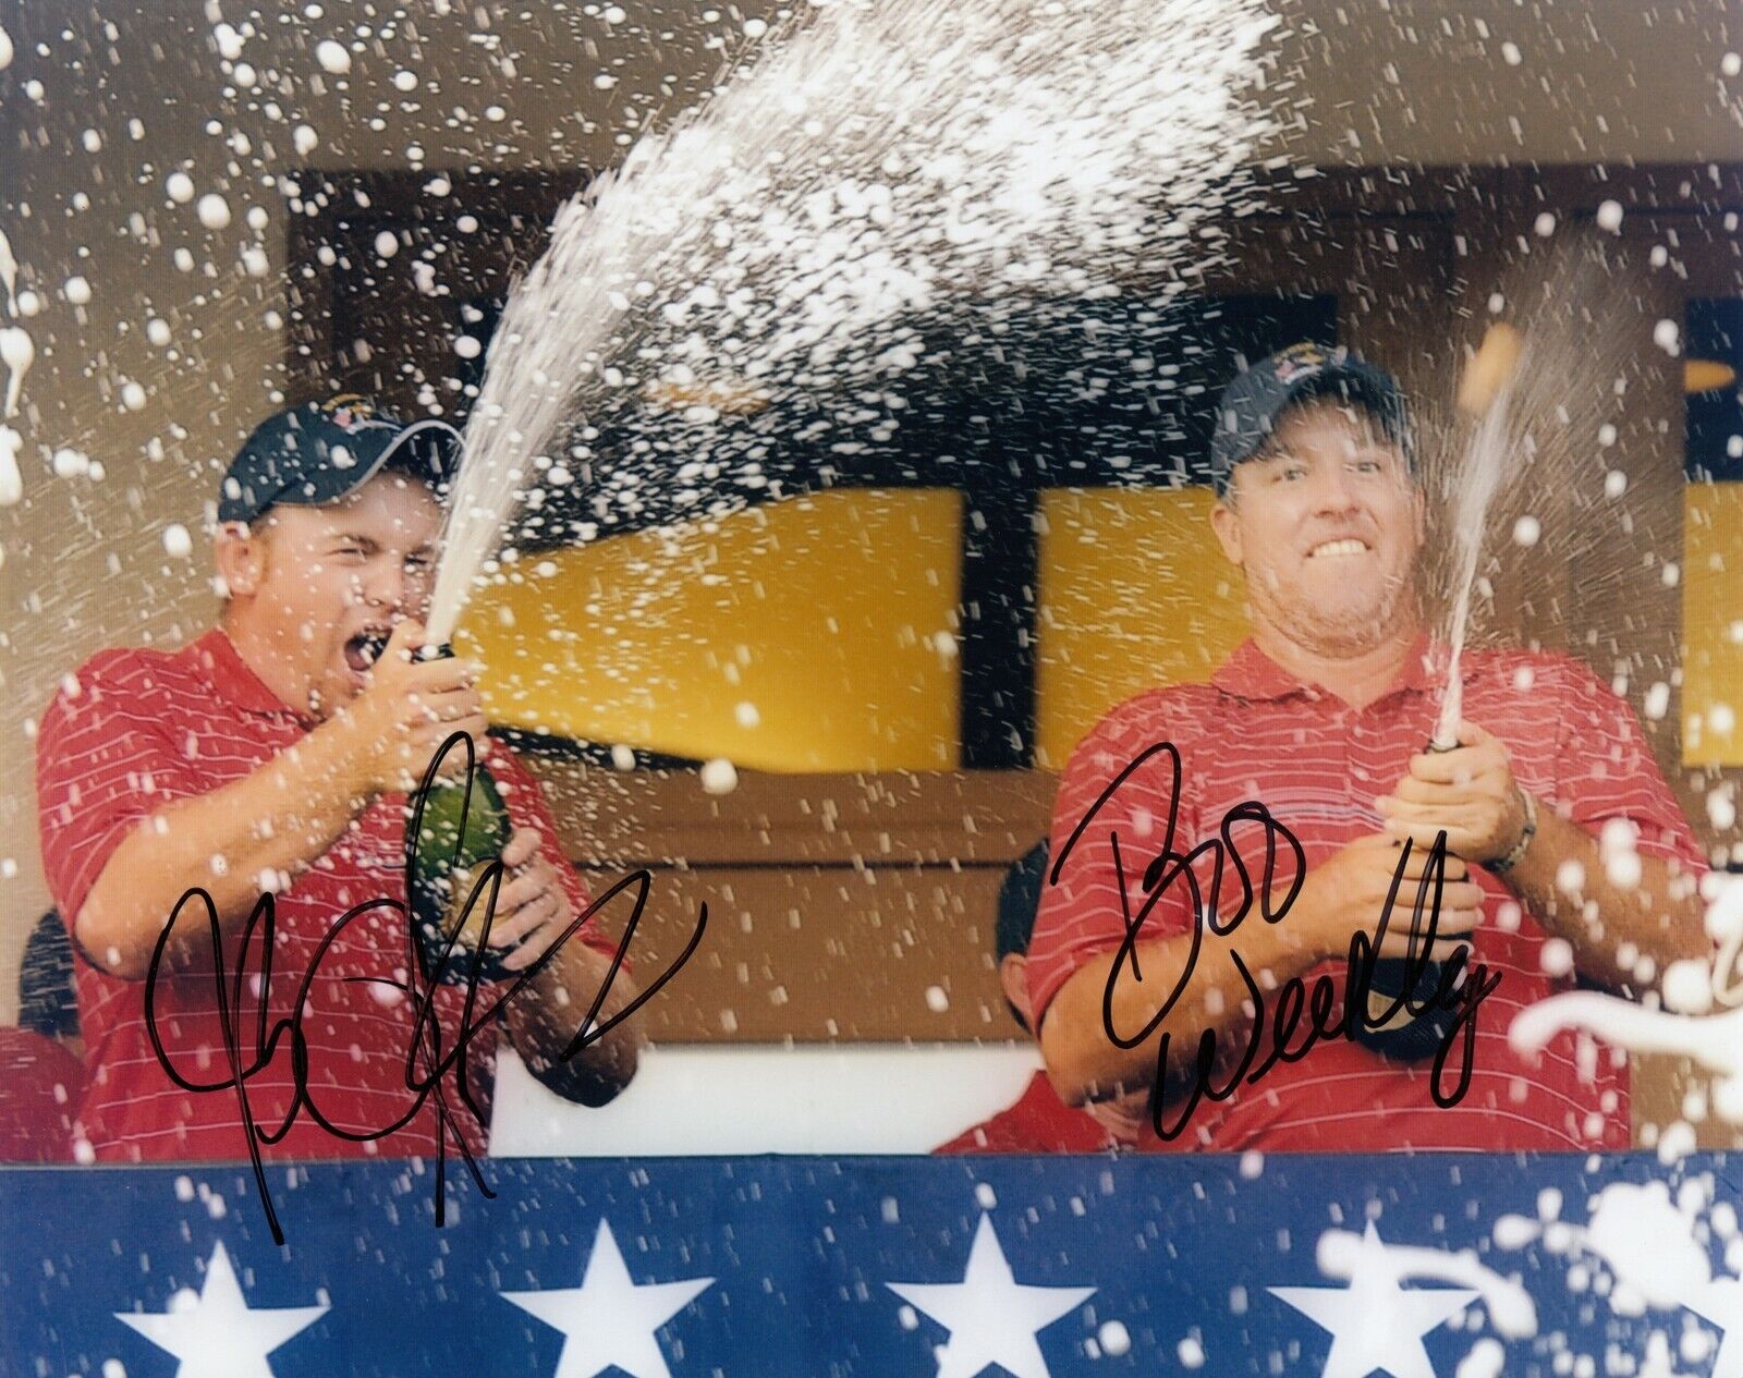
[[[436,758],[431,761],[429,770],[424,775],[424,782],[418,786],[417,817],[422,817],[424,794],[431,787],[431,782],[436,779],[436,772],[443,758],[462,739],[465,740],[467,747],[467,758],[469,758],[467,787],[471,787],[472,740],[467,733],[457,732],[443,744],[441,751],[436,753]],[[417,827],[417,817],[413,817],[413,821],[406,827],[408,895],[411,894],[411,875],[417,864],[417,843],[420,834],[420,829]],[[575,920],[546,949],[546,953],[537,962],[528,965],[523,972],[519,972],[512,981],[512,984],[509,984],[504,991],[500,991],[497,998],[492,1000],[490,1005],[481,1012],[478,1012],[474,1017],[474,1009],[478,1005],[478,984],[479,984],[481,963],[486,960],[486,941],[490,937],[490,927],[495,920],[497,892],[502,883],[502,875],[504,875],[504,866],[500,857],[488,861],[486,864],[478,868],[476,882],[465,902],[465,911],[460,922],[455,923],[453,934],[448,937],[448,942],[443,948],[439,960],[436,962],[436,970],[429,974],[427,986],[420,983],[422,962],[417,951],[417,939],[411,936],[411,923],[406,913],[408,908],[406,904],[396,899],[382,897],[382,899],[364,901],[363,904],[347,909],[322,936],[319,946],[315,948],[314,960],[309,963],[309,970],[303,974],[303,981],[296,990],[296,1002],[291,1009],[291,1014],[284,1019],[272,1021],[270,1024],[267,1021],[267,993],[272,990],[272,953],[275,946],[274,932],[277,922],[272,894],[260,895],[260,899],[254,902],[254,908],[248,915],[248,922],[242,925],[241,946],[237,949],[237,969],[234,974],[227,974],[225,970],[223,929],[218,922],[218,906],[213,902],[211,894],[200,887],[193,887],[187,890],[180,901],[176,901],[176,908],[171,911],[169,922],[164,925],[162,934],[159,934],[157,946],[152,949],[152,965],[146,969],[145,1026],[152,1038],[152,1049],[157,1052],[157,1061],[162,1064],[164,1071],[176,1085],[180,1085],[183,1091],[197,1094],[223,1092],[223,1091],[232,1091],[235,1094],[237,1108],[242,1117],[242,1131],[248,1139],[249,1162],[253,1164],[254,1169],[254,1183],[260,1188],[260,1199],[261,1204],[265,1206],[267,1223],[272,1226],[272,1239],[275,1244],[284,1244],[284,1232],[279,1226],[279,1216],[277,1209],[272,1204],[272,1193],[267,1190],[267,1176],[265,1176],[265,1167],[261,1164],[260,1150],[261,1145],[275,1145],[286,1134],[289,1134],[291,1125],[296,1124],[296,1118],[300,1115],[307,1115],[314,1124],[317,1124],[321,1129],[324,1129],[336,1139],[345,1139],[350,1143],[366,1143],[385,1138],[387,1134],[394,1134],[396,1131],[403,1129],[417,1117],[420,1110],[424,1110],[425,1101],[434,1096],[436,1127],[437,1127],[436,1223],[443,1225],[446,1214],[444,1185],[446,1185],[450,1136],[453,1136],[453,1141],[458,1146],[460,1155],[465,1160],[465,1165],[471,1171],[472,1181],[478,1185],[479,1192],[483,1192],[485,1197],[493,1199],[495,1192],[492,1192],[490,1186],[485,1183],[483,1172],[479,1171],[478,1162],[472,1157],[472,1152],[465,1145],[465,1138],[458,1134],[458,1131],[455,1129],[455,1108],[448,1103],[448,1094],[441,1084],[443,1077],[450,1070],[458,1068],[458,1075],[455,1080],[460,1085],[460,1099],[465,1103],[465,1108],[472,1113],[472,1117],[479,1124],[485,1122],[485,1111],[472,1099],[471,1082],[465,1075],[467,1054],[472,1038],[478,1037],[479,1031],[492,1028],[497,1014],[521,993],[526,983],[537,977],[551,963],[551,960],[556,958],[556,955],[563,949],[563,944],[568,942],[580,930],[580,927],[589,918],[593,918],[594,913],[601,911],[607,904],[610,904],[612,899],[615,899],[627,888],[634,888],[636,897],[634,897],[634,908],[629,913],[629,920],[624,925],[624,937],[617,944],[615,953],[612,955],[612,965],[607,970],[605,979],[600,983],[600,991],[593,998],[593,1005],[587,1010],[586,1019],[582,1019],[575,1037],[563,1049],[560,1061],[565,1063],[570,1061],[582,1049],[587,1049],[593,1044],[596,1044],[600,1038],[603,1038],[607,1033],[617,1028],[624,1019],[627,1019],[631,1014],[641,1009],[641,1005],[652,1000],[661,991],[661,988],[678,974],[683,963],[690,960],[690,955],[697,949],[697,946],[702,941],[702,932],[708,929],[708,904],[704,902],[699,908],[695,930],[690,934],[690,941],[685,944],[683,951],[678,953],[676,960],[669,967],[666,967],[666,970],[661,972],[659,977],[652,984],[648,984],[647,990],[640,991],[634,998],[631,998],[629,1003],[624,1005],[624,1009],[621,1009],[617,1014],[610,1016],[603,1023],[596,1024],[594,1021],[598,1019],[600,1010],[605,1005],[607,996],[610,995],[612,983],[617,979],[617,972],[624,965],[624,956],[629,951],[629,944],[636,936],[636,925],[641,922],[641,911],[647,906],[648,890],[654,882],[652,871],[647,869],[634,871],[619,880],[605,894],[594,899],[586,909],[582,909],[582,913],[575,916]],[[218,1000],[218,1021],[220,1026],[223,1028],[225,1064],[228,1068],[227,1077],[204,1082],[185,1075],[180,1068],[174,1066],[174,1063],[169,1057],[169,1052],[164,1049],[162,1038],[157,1030],[159,970],[162,969],[164,955],[169,949],[171,934],[176,929],[176,922],[181,918],[183,908],[195,901],[206,906],[206,920],[211,930],[213,991]],[[478,948],[472,948],[469,955],[471,965],[465,976],[467,990],[465,990],[460,1031],[455,1038],[448,1040],[446,1031],[441,1026],[441,1019],[436,1014],[434,990],[448,967],[460,930],[465,927],[467,920],[472,915],[474,906],[479,904],[479,901],[483,901],[485,904],[481,920],[481,937]],[[373,976],[368,977],[354,976],[354,977],[345,977],[345,981],[347,984],[389,986],[403,991],[411,1000],[415,1019],[411,1028],[411,1044],[406,1049],[406,1073],[404,1073],[406,1091],[411,1092],[411,1103],[404,1108],[404,1113],[401,1113],[390,1124],[357,1131],[357,1129],[345,1129],[335,1124],[333,1118],[315,1101],[309,1082],[309,1042],[303,1037],[302,1021],[307,1010],[309,993],[321,974],[321,963],[326,958],[328,951],[333,948],[340,934],[345,932],[345,929],[354,920],[375,911],[385,911],[389,915],[394,915],[397,918],[399,929],[406,934],[406,941],[411,948],[410,951],[411,960],[408,962],[406,967],[410,976],[404,983]],[[258,1002],[260,1009],[254,1021],[253,1045],[248,1049],[248,1061],[244,1061],[242,1026],[241,1026],[242,983],[248,977],[248,955],[249,955],[249,946],[254,942],[256,934],[260,937],[260,1002]],[[277,1125],[260,1125],[256,1124],[254,1110],[253,1104],[249,1103],[248,1082],[251,1077],[258,1075],[272,1063],[272,1059],[279,1052],[281,1040],[288,1040],[289,1044],[291,1073],[296,1094],[291,1098],[291,1104],[284,1111],[284,1118]],[[444,1044],[448,1045],[444,1047]]]

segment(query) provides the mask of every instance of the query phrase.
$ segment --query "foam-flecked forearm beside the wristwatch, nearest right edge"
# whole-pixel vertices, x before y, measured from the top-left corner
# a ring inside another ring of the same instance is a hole
[[[1673,875],[1659,857],[1642,854],[1638,862],[1638,883],[1618,885],[1598,840],[1539,803],[1537,836],[1502,880],[1572,946],[1581,976],[1611,988],[1640,988],[1652,984],[1637,976],[1642,956],[1652,960],[1656,981],[1672,962],[1708,960],[1713,948],[1694,876]],[[1633,960],[1624,962],[1628,956]]]

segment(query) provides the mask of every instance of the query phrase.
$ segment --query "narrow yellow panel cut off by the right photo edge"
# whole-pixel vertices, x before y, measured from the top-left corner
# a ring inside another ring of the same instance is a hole
[[[1682,498],[1682,763],[1743,765],[1743,483]]]

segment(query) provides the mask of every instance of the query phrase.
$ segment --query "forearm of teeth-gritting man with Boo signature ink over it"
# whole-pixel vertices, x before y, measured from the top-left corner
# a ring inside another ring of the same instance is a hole
[[[1055,996],[1041,1024],[1041,1052],[1061,1099],[1082,1104],[1121,1091],[1149,1089],[1156,1082],[1163,1033],[1170,1035],[1164,1087],[1197,1063],[1206,1031],[1217,1037],[1224,1056],[1245,1049],[1253,1021],[1251,993],[1234,955],[1239,953],[1262,990],[1300,976],[1318,960],[1285,932],[1288,922],[1272,925],[1248,918],[1229,937],[1204,934],[1183,984],[1180,974],[1192,953],[1190,934],[1138,942],[1136,967],[1143,979],[1133,979],[1128,960],[1114,986],[1114,1030],[1122,1038],[1135,1037],[1157,1017],[1177,984],[1180,993],[1168,1003],[1168,1016],[1135,1047],[1121,1047],[1107,1037],[1103,1002],[1117,953],[1084,963]]]

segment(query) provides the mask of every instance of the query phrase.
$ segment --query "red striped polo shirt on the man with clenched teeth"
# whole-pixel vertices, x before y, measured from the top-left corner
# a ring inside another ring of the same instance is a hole
[[[1208,685],[1152,690],[1114,709],[1077,746],[1060,782],[1053,815],[1053,855],[1119,772],[1157,742],[1180,751],[1175,850],[1190,852],[1217,836],[1224,815],[1246,800],[1271,810],[1300,841],[1307,866],[1363,834],[1379,833],[1375,798],[1389,794],[1408,758],[1429,740],[1440,709],[1445,650],[1419,639],[1398,683],[1353,709],[1337,695],[1300,683],[1243,643]],[[1626,702],[1591,671],[1563,655],[1475,652],[1464,657],[1464,718],[1499,737],[1520,786],[1586,831],[1611,819],[1638,829],[1642,855],[1668,857],[1699,875],[1701,850],[1670,793]],[[1173,794],[1173,768],[1161,753],[1126,780],[1082,833],[1058,885],[1042,895],[1028,951],[1030,998],[1044,1014],[1060,986],[1091,958],[1124,937],[1109,833],[1117,831],[1131,913],[1143,902],[1143,866],[1163,843]],[[1243,824],[1236,841],[1255,885],[1262,875],[1260,829]],[[1145,838],[1152,838],[1145,850]],[[1136,857],[1136,861],[1133,859]],[[1279,854],[1276,895],[1288,892],[1293,857]],[[1501,974],[1476,1016],[1475,1075],[1466,1096],[1440,1108],[1429,1094],[1429,1066],[1400,1064],[1349,1042],[1316,1044],[1299,1063],[1274,1064],[1227,1101],[1204,1099],[1185,1132],[1156,1150],[1586,1150],[1626,1148],[1628,1063],[1584,1035],[1558,1037],[1541,1059],[1518,1057],[1506,1030],[1515,1012],[1555,991],[1570,974],[1544,970],[1544,930],[1494,876],[1473,868],[1485,894],[1473,963]],[[1201,868],[1210,882],[1210,864]],[[1224,894],[1239,894],[1225,862]],[[1408,923],[1414,892],[1394,922]],[[1262,923],[1255,902],[1245,923]],[[1281,920],[1288,923],[1285,916]],[[1189,932],[1190,892],[1170,885],[1150,911],[1143,936]],[[1239,929],[1229,941],[1239,949]],[[1551,963],[1553,965],[1553,963]],[[1307,972],[1335,977],[1342,1009],[1344,960]],[[1129,972],[1122,979],[1131,979]],[[1271,1005],[1274,1005],[1274,998]],[[1267,1007],[1267,1014],[1269,1014]],[[1306,1035],[1306,1021],[1295,1047]],[[1245,1030],[1224,1035],[1245,1040]],[[1462,1035],[1461,1035],[1462,1037]],[[1457,1052],[1450,1071],[1457,1071]],[[1450,1089],[1454,1078],[1443,1080]],[[1217,1084],[1222,1084],[1218,1077]],[[1164,1111],[1164,1124],[1175,1117]]]

